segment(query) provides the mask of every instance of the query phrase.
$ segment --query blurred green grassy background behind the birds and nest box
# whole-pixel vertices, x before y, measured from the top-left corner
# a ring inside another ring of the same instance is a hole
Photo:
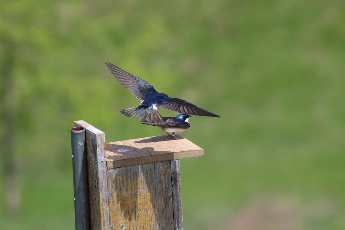
[[[70,131],[164,134],[108,61],[191,118],[185,229],[345,229],[344,1],[0,3],[0,229],[73,229]],[[160,110],[161,111],[161,110]],[[161,111],[163,116],[176,116]]]

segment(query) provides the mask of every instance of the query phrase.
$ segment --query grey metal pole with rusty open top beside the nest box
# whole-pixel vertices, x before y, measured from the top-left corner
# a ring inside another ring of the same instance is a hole
[[[85,128],[71,128],[74,213],[76,230],[89,230],[89,192],[87,179]]]

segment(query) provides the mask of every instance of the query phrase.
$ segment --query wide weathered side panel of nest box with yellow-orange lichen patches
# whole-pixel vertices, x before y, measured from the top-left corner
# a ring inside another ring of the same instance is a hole
[[[107,172],[110,229],[174,229],[170,161]]]

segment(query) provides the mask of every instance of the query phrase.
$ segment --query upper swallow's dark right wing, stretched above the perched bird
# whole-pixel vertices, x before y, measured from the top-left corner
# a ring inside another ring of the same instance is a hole
[[[188,101],[178,99],[178,98],[170,98],[168,100],[157,103],[156,106],[161,109],[168,109],[168,110],[176,111],[179,113],[190,114],[190,115],[220,117],[217,114],[206,111],[205,109],[201,109],[195,104],[192,104]]]

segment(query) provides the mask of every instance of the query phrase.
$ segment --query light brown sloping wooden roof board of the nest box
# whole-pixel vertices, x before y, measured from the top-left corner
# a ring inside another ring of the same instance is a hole
[[[108,169],[199,157],[203,154],[204,150],[189,140],[172,139],[166,135],[106,143]]]

